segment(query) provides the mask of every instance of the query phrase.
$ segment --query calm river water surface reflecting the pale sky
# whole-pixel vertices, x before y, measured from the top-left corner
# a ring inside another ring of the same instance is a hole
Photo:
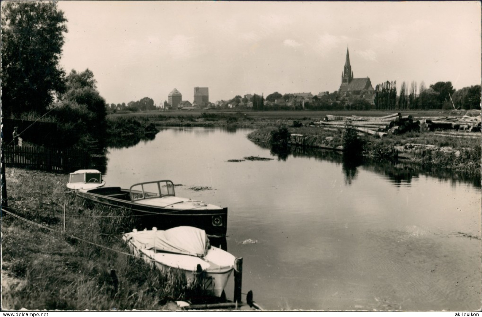
[[[347,167],[333,152],[283,160],[248,132],[166,129],[111,148],[107,186],[171,179],[178,196],[228,206],[228,251],[265,309],[481,308],[478,180]],[[245,156],[274,160],[227,162]]]

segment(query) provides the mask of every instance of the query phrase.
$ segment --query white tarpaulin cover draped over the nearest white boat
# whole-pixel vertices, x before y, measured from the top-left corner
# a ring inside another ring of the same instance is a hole
[[[205,256],[209,249],[206,232],[194,227],[175,227],[168,230],[144,230],[124,234],[125,241],[131,241],[135,247],[158,250],[176,254]]]

